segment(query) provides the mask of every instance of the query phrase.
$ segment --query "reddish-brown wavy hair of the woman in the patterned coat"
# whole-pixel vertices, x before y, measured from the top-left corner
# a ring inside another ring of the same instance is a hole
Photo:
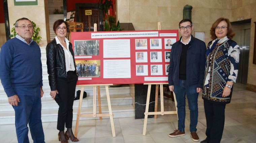
[[[234,37],[234,35],[235,35],[235,32],[233,32],[233,30],[232,30],[232,26],[231,26],[230,21],[229,21],[227,18],[223,18],[223,17],[217,19],[217,20],[213,23],[213,25],[212,25],[212,27],[211,27],[211,30],[210,30],[211,38],[212,38],[213,40],[215,40],[215,39],[217,38],[217,36],[215,35],[215,28],[218,26],[218,24],[219,24],[221,21],[225,21],[225,22],[228,24],[228,28],[227,28],[227,30],[228,30],[228,32],[227,32],[227,37],[228,37],[229,39],[232,39],[232,38]]]

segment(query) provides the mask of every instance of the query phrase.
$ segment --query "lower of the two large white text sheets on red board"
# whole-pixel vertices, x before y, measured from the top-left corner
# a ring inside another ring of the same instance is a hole
[[[131,78],[130,60],[103,60],[103,78]]]

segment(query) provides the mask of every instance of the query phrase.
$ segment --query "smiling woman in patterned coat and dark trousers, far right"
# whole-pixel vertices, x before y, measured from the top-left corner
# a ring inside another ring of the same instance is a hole
[[[221,141],[225,106],[230,103],[239,62],[239,46],[231,40],[235,35],[227,18],[217,19],[211,27],[206,50],[206,65],[202,98],[206,117],[206,139],[201,143]]]

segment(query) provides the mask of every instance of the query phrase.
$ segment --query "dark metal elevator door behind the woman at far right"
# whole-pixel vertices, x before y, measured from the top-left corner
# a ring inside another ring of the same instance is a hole
[[[239,55],[239,70],[238,70],[238,83],[247,84],[248,65],[249,65],[249,50],[250,50],[250,24],[241,25],[240,35],[240,55]]]

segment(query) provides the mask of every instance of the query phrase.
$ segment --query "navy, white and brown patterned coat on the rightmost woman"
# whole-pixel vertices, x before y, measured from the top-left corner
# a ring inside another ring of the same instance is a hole
[[[214,46],[212,52],[206,57],[204,87],[202,98],[215,103],[230,103],[230,95],[222,97],[227,81],[235,82],[238,73],[239,46],[233,40],[227,40]],[[207,49],[212,42],[209,42]]]

